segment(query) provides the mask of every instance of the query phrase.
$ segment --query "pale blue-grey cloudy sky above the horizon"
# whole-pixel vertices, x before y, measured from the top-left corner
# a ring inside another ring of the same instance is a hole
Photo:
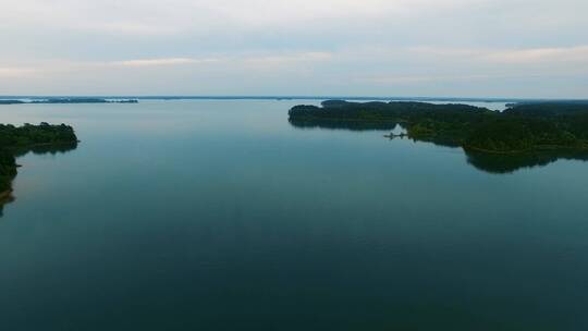
[[[586,0],[0,0],[0,95],[588,98]]]

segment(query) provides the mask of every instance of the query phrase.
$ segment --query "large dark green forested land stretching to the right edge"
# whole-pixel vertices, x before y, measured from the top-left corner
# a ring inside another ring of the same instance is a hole
[[[583,102],[515,103],[500,112],[457,103],[328,100],[322,107],[295,106],[289,115],[293,125],[303,127],[401,125],[408,138],[478,154],[588,150],[588,105]]]

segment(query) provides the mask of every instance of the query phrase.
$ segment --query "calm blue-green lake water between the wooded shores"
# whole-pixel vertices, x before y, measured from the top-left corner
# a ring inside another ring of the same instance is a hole
[[[588,163],[497,174],[296,103],[0,107],[82,140],[17,160],[0,329],[588,330]]]

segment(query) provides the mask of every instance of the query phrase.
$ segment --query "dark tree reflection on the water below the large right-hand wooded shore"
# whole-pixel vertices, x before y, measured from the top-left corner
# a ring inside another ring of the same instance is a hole
[[[376,122],[348,122],[348,121],[299,121],[290,119],[290,124],[296,128],[327,128],[347,131],[392,131],[384,137],[390,139],[412,139],[408,138],[396,123]],[[462,148],[454,142],[442,139],[413,139],[415,142],[431,143],[437,146]],[[527,154],[500,155],[487,154],[473,150],[464,150],[467,163],[478,170],[493,174],[509,174],[525,168],[546,167],[560,159],[588,161],[586,150],[555,150],[535,151]]]

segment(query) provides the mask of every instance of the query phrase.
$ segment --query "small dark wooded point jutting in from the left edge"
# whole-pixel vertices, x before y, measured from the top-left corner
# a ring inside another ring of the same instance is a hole
[[[60,124],[0,124],[0,206],[11,199],[12,181],[16,176],[15,157],[29,150],[46,152],[69,150],[77,145],[73,127]]]

